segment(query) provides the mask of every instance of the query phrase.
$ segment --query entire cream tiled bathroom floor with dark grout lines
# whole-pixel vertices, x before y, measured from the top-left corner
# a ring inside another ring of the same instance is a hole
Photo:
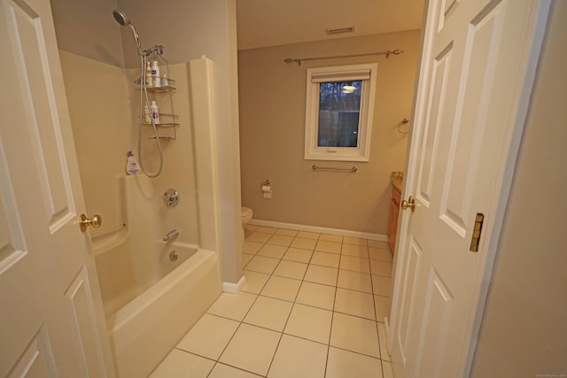
[[[393,376],[387,243],[247,226],[244,264],[152,378]]]

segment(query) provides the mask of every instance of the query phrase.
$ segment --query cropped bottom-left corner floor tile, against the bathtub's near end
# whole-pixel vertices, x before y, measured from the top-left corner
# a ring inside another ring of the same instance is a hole
[[[174,349],[151,373],[150,378],[206,378],[214,361]]]

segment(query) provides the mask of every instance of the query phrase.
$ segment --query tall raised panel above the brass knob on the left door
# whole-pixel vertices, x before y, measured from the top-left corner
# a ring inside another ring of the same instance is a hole
[[[51,232],[74,217],[65,152],[59,133],[58,110],[43,40],[43,23],[22,2],[7,4],[7,24],[18,67],[24,106],[29,118],[35,164]],[[56,147],[56,148],[54,148]]]

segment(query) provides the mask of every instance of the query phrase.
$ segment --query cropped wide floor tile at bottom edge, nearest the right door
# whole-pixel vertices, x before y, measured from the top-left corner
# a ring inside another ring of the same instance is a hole
[[[350,377],[382,378],[380,360],[331,346],[325,378]]]

